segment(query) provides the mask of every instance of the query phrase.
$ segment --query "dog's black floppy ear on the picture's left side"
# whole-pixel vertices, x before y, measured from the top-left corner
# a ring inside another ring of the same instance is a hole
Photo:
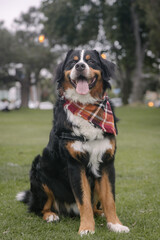
[[[68,59],[68,57],[70,56],[70,54],[72,53],[72,49],[70,51],[68,51],[65,60],[63,62],[61,62],[56,69],[56,75],[55,75],[55,81],[58,82],[58,84],[60,84],[63,81],[64,78],[64,67],[66,64],[66,61]]]

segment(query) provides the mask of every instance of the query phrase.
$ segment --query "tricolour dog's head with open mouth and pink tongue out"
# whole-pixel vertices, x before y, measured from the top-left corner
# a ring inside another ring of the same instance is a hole
[[[70,50],[57,68],[58,89],[73,100],[97,100],[110,88],[114,68],[96,50]]]

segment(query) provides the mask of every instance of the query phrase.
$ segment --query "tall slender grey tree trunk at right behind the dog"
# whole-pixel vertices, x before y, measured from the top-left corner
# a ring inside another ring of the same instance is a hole
[[[136,55],[136,67],[132,77],[132,102],[141,102],[143,99],[143,84],[142,84],[142,71],[143,71],[143,61],[144,61],[144,49],[142,49],[141,38],[139,33],[139,20],[137,13],[135,11],[134,2],[131,5],[131,14],[134,28],[135,36],[135,55]]]

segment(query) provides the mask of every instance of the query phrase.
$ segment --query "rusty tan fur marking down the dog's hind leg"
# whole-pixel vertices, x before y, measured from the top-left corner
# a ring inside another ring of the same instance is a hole
[[[45,203],[43,210],[42,210],[43,219],[47,221],[51,215],[53,216],[54,219],[56,219],[57,215],[51,211],[51,207],[54,202],[53,192],[45,184],[43,184],[43,189],[48,197],[47,202]]]

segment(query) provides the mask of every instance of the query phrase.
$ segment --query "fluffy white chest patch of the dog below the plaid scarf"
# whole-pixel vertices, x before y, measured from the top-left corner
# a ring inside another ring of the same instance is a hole
[[[89,164],[92,173],[99,177],[99,165],[102,162],[103,154],[112,149],[112,144],[109,138],[104,138],[103,131],[95,128],[88,121],[79,116],[75,116],[69,110],[66,110],[68,120],[73,124],[73,132],[76,136],[83,135],[87,142],[75,141],[72,148],[78,152],[89,153]]]

